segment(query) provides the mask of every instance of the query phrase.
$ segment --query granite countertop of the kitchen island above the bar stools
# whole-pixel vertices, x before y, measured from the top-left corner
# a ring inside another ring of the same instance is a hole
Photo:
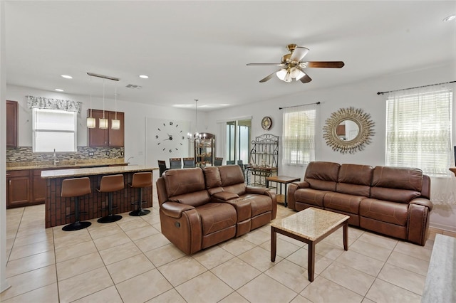
[[[142,165],[128,165],[128,166],[104,166],[104,167],[93,167],[90,169],[56,169],[41,171],[41,178],[53,179],[53,178],[64,178],[64,177],[75,177],[75,176],[93,176],[103,174],[125,174],[133,173],[138,171],[152,171],[158,169],[158,167],[142,166]]]

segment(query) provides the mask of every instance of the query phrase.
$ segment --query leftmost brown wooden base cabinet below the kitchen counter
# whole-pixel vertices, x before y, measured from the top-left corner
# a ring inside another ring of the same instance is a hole
[[[30,170],[8,171],[6,174],[6,208],[31,204]]]

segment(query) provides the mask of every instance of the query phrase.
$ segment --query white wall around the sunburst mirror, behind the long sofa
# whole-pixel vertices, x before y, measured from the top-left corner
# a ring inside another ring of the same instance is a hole
[[[252,115],[252,138],[264,134],[266,131],[261,128],[261,119],[264,116],[272,118],[272,128],[269,133],[281,138],[282,112],[279,107],[303,105],[313,102],[321,102],[317,119],[319,125],[316,134],[316,160],[333,161],[338,163],[368,164],[371,166],[385,165],[385,114],[386,95],[377,95],[378,91],[398,90],[407,87],[444,83],[456,80],[456,64],[428,68],[427,70],[415,70],[410,73],[386,75],[382,78],[367,79],[362,83],[353,83],[338,87],[329,87],[324,90],[307,90],[306,85],[292,83],[291,85],[303,85],[303,92],[297,95],[281,97],[276,100],[266,100],[242,107],[229,108],[211,112],[209,115],[209,127],[216,124],[217,120],[239,117],[239,115]],[[318,79],[314,79],[318,81]],[[310,84],[310,83],[309,83]],[[264,85],[273,85],[264,83]],[[456,92],[456,85],[450,85]],[[371,144],[363,151],[355,154],[341,154],[326,146],[323,139],[323,125],[332,112],[342,107],[361,108],[371,115],[375,123]],[[453,107],[453,117],[456,117],[456,105]],[[217,129],[216,127],[213,127]],[[220,136],[219,133],[215,133]],[[279,145],[280,145],[279,139]],[[453,143],[456,143],[456,123],[453,124]],[[281,165],[281,146],[279,146],[279,174],[285,176],[303,177],[305,167]],[[431,197],[432,198],[432,197]],[[437,228],[456,231],[456,205],[437,206],[431,212],[430,223]]]

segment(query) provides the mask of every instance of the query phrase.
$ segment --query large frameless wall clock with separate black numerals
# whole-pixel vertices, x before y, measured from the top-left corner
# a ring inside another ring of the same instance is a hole
[[[155,134],[157,146],[162,151],[169,151],[170,153],[179,151],[184,146],[185,132],[179,124],[175,122],[162,123],[157,127]]]

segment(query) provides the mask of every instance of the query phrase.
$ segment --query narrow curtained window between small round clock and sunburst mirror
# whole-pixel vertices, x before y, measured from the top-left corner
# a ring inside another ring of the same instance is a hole
[[[284,109],[282,163],[305,165],[315,160],[316,109]]]

